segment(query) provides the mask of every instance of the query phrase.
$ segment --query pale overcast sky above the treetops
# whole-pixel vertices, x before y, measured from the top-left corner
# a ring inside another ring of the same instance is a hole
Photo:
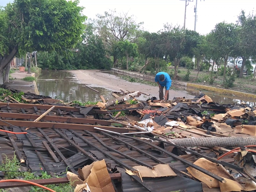
[[[10,0],[0,0],[0,6]],[[109,9],[117,12],[129,12],[149,32],[157,32],[164,23],[184,25],[185,1],[181,0],[80,0],[85,7],[84,15],[95,18],[97,13],[103,14]],[[194,30],[196,0],[187,6],[186,28]],[[256,0],[198,0],[196,31],[200,34],[209,33],[214,26],[222,21],[236,23],[241,10],[246,15],[256,8]]]

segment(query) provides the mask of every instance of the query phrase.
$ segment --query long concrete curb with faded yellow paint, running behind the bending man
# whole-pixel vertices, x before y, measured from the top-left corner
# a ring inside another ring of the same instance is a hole
[[[152,77],[152,76],[133,73],[133,72],[130,72],[130,71],[124,71],[124,70],[115,69],[115,68],[111,68],[111,70],[116,71],[116,72],[121,73],[121,74],[137,76],[137,77],[141,77],[145,80],[151,80],[151,81],[155,82],[155,77]],[[204,89],[204,90],[215,92],[215,93],[235,95],[235,96],[238,96],[238,97],[256,99],[256,95],[254,95],[254,94],[244,93],[244,92],[239,92],[239,91],[233,91],[233,90],[229,90],[229,89],[222,89],[222,88],[211,87],[211,86],[200,85],[200,84],[194,84],[194,83],[186,83],[186,82],[182,82],[182,81],[172,81],[172,84],[182,85],[182,86],[185,86],[185,87],[193,87],[193,88],[201,89],[201,90]]]

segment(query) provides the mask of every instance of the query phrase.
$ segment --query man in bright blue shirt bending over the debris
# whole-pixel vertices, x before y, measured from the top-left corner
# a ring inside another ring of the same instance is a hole
[[[159,72],[156,74],[155,81],[159,86],[159,99],[169,100],[169,89],[172,85],[172,80],[169,74],[165,72]],[[164,87],[165,87],[165,95],[164,95]]]

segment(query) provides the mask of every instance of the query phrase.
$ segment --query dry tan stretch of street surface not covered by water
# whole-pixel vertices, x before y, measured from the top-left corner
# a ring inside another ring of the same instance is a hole
[[[97,85],[98,87],[104,87],[112,91],[120,91],[120,89],[124,91],[140,91],[146,94],[151,94],[157,98],[159,97],[158,87],[140,83],[131,83],[114,75],[100,73],[99,70],[73,70],[69,72],[73,72],[82,84],[91,84],[92,86]],[[173,97],[194,98],[194,96],[187,94],[186,91],[170,90],[169,94],[169,99],[172,99]],[[142,97],[148,98],[148,96],[145,95],[142,95]]]

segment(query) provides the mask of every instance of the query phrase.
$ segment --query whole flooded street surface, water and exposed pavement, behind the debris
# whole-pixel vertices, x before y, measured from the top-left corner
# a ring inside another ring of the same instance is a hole
[[[100,72],[98,70],[73,70],[73,71],[48,71],[43,70],[37,78],[37,87],[41,95],[48,95],[52,98],[71,102],[79,101],[99,101],[100,95],[108,100],[113,98],[112,91],[129,90],[141,91],[152,94],[158,98],[158,88],[140,83],[131,83],[120,79],[121,74],[113,71]],[[138,77],[137,77],[138,78]],[[84,85],[92,87],[99,91],[95,92]],[[172,84],[175,90],[170,90],[170,99],[173,97],[193,98],[200,94],[200,90],[176,86]],[[220,104],[241,103],[245,102],[251,106],[255,106],[252,99],[239,98],[234,95],[220,95],[213,92],[202,91]],[[140,96],[140,100],[148,99],[148,96]]]

